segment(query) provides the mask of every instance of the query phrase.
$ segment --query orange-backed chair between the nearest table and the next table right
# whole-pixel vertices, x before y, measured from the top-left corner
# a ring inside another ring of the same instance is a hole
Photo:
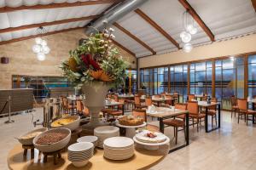
[[[192,124],[194,127],[194,119],[196,120],[196,128],[197,132],[199,131],[198,129],[198,124],[201,122],[201,119],[205,118],[205,114],[201,114],[199,112],[199,107],[197,101],[189,101],[187,105],[187,110],[189,111],[189,117],[192,119]]]

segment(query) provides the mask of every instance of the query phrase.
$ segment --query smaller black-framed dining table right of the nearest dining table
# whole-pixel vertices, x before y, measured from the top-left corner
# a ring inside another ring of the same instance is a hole
[[[214,127],[212,129],[208,129],[208,109],[211,106],[217,106],[218,105],[218,126]],[[206,129],[206,133],[210,133],[214,130],[217,130],[218,128],[220,128],[220,103],[215,103],[215,102],[211,102],[211,104],[207,104],[207,101],[199,101],[198,102],[198,106],[201,108],[205,108],[206,110],[206,116],[205,116],[205,129]]]

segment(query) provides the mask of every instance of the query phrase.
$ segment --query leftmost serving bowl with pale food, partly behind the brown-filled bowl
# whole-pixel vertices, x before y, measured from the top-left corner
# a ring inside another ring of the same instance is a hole
[[[28,133],[20,135],[19,138],[17,138],[20,142],[20,144],[24,145],[32,145],[33,144],[33,139],[38,136],[38,134],[44,133],[47,131],[46,127],[38,128],[35,130],[32,130]]]

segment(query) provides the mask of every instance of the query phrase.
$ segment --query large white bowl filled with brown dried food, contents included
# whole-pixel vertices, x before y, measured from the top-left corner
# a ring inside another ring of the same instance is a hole
[[[71,131],[66,127],[57,127],[39,134],[33,139],[35,148],[42,152],[54,152],[67,146]]]

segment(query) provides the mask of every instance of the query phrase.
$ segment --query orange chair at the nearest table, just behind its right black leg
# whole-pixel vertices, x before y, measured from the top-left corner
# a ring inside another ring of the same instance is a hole
[[[176,104],[175,109],[186,111],[187,105]],[[170,127],[170,126],[173,127],[173,130],[174,130],[173,134],[174,134],[174,137],[175,137],[175,144],[177,144],[177,128],[178,127],[183,127],[184,135],[185,135],[185,138],[186,138],[185,115],[183,114],[183,115],[180,115],[179,117],[181,117],[182,120],[175,119],[175,117],[173,119],[170,118],[170,119],[163,120],[164,125],[166,125],[166,127]]]

